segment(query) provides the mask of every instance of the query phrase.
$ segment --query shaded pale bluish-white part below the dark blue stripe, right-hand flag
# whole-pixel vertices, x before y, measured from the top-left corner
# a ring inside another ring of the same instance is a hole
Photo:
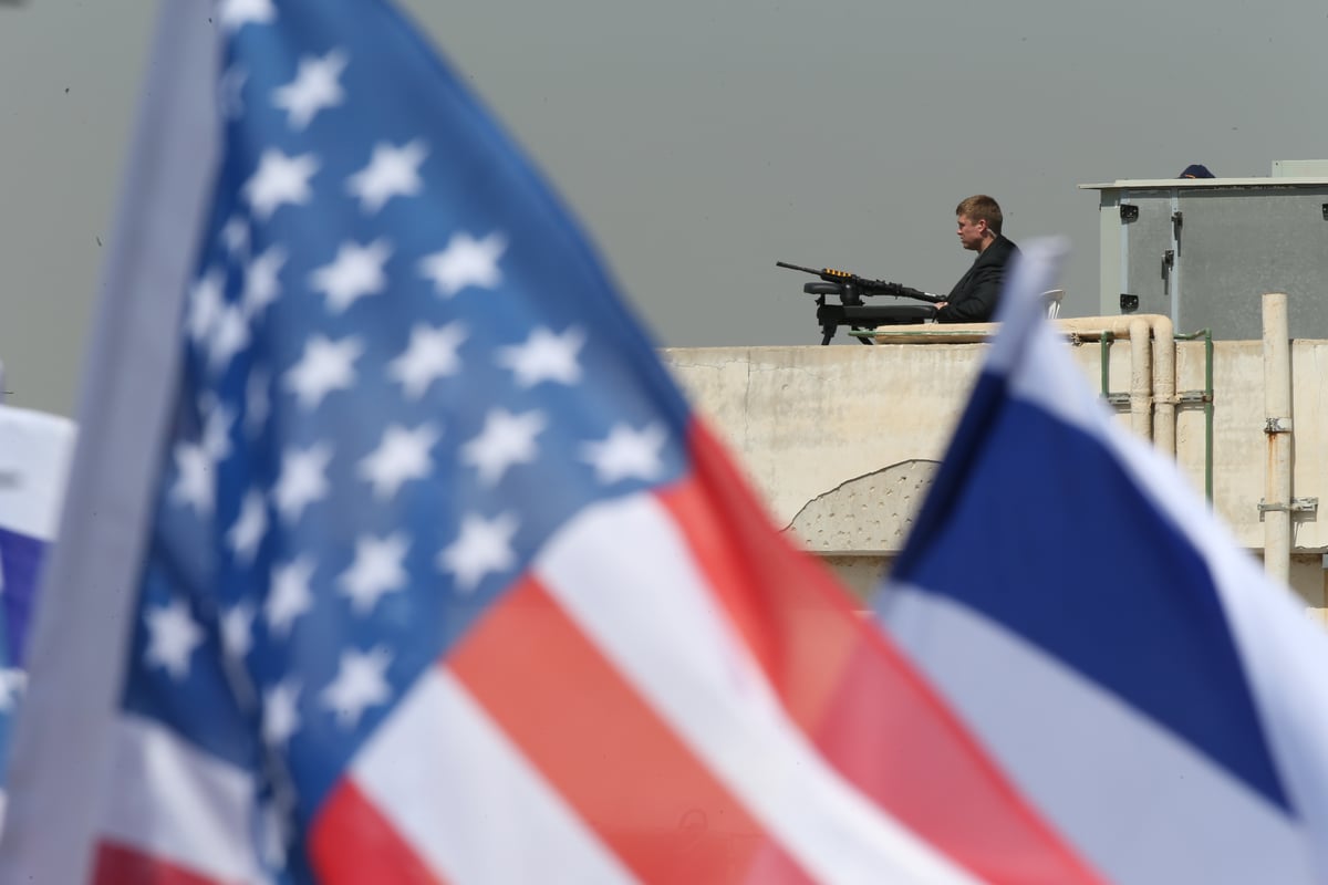
[[[890,628],[1023,792],[1113,881],[1315,881],[1304,833],[1280,809],[999,624],[896,585]]]

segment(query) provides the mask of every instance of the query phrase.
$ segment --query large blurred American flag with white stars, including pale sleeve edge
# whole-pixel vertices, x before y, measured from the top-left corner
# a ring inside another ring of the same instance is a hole
[[[4,881],[1096,881],[388,7],[154,53]]]

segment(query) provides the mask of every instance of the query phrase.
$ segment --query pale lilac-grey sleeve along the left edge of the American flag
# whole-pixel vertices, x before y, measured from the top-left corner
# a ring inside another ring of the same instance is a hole
[[[166,0],[158,16],[84,374],[78,419],[88,444],[77,446],[33,625],[31,689],[0,839],[3,881],[88,878],[92,858],[72,847],[93,844],[100,805],[89,796],[109,759],[151,475],[179,358],[179,293],[197,248],[197,226],[181,219],[206,211],[216,157],[211,15],[207,4]],[[93,511],[84,499],[101,504]],[[52,735],[77,736],[80,752],[64,754],[58,767],[40,764],[40,744]],[[50,820],[64,828],[52,832],[42,823]]]

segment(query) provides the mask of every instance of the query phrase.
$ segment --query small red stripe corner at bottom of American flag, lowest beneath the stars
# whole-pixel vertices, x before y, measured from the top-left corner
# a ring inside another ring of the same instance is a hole
[[[402,764],[410,764],[404,759]],[[442,885],[353,782],[343,779],[309,831],[309,860],[325,885]]]

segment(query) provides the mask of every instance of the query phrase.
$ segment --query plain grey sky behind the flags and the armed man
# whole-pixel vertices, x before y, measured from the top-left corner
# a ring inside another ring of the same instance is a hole
[[[813,344],[777,259],[946,291],[954,206],[1072,238],[1085,182],[1328,157],[1321,0],[405,4],[595,238],[661,344]],[[157,4],[0,5],[0,360],[72,414]],[[100,244],[98,244],[100,240]]]

